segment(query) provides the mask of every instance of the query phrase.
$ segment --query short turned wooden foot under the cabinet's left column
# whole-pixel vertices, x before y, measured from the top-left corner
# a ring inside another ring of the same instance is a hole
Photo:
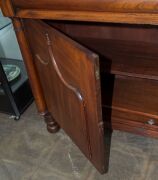
[[[44,120],[47,124],[48,132],[56,133],[59,131],[60,127],[59,127],[58,123],[54,120],[54,118],[51,116],[51,114],[49,112],[47,112],[44,115]]]

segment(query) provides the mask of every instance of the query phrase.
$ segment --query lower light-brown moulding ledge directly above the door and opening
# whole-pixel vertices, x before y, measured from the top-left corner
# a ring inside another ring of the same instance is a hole
[[[70,21],[91,21],[128,24],[158,25],[158,14],[155,13],[112,13],[112,12],[88,12],[88,11],[55,11],[18,9],[18,18],[54,19]]]

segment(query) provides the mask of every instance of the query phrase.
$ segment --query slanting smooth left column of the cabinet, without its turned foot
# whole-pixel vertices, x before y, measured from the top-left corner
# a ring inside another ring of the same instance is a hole
[[[47,112],[47,107],[45,103],[45,99],[43,96],[43,92],[41,89],[41,85],[39,82],[39,77],[33,63],[32,54],[30,52],[30,47],[28,45],[28,41],[26,39],[23,24],[20,19],[13,18],[13,25],[15,28],[15,32],[17,35],[17,39],[20,45],[20,49],[24,58],[24,62],[27,68],[27,72],[29,75],[33,95],[35,98],[36,105],[38,107],[38,111],[41,115],[44,115]]]

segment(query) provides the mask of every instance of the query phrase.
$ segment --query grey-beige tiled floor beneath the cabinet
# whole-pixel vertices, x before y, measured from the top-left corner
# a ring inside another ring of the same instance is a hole
[[[100,175],[60,131],[49,134],[35,105],[15,122],[0,114],[0,180],[157,180],[158,140],[114,131]]]

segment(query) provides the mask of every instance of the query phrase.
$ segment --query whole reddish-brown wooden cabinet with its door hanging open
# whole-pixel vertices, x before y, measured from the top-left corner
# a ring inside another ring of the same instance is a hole
[[[157,3],[1,1],[48,131],[64,129],[101,173],[111,130],[158,137]]]

